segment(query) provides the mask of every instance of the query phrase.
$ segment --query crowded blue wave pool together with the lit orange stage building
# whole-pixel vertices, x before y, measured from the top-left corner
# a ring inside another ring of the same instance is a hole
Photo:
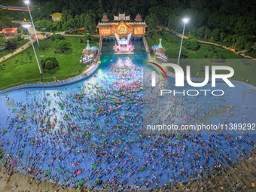
[[[114,41],[101,38],[100,52],[87,51],[92,56],[82,62],[93,57],[100,62],[79,81],[0,92],[3,165],[78,191],[170,191],[168,186],[186,190],[187,183],[221,174],[254,155],[255,88],[233,81],[236,88],[230,89],[221,81],[216,87],[224,90],[223,96],[159,96],[163,87],[181,91],[190,85],[175,87],[175,79],[167,73],[168,80],[157,75],[157,87],[151,87],[151,73],[144,65],[149,60],[148,44],[144,38],[133,40],[144,35],[146,24],[136,18],[132,22],[130,16],[119,14],[109,21],[103,16],[99,35]],[[162,56],[154,53],[151,62],[159,62],[156,55]],[[203,89],[211,87],[209,82]],[[197,123],[227,127],[239,122],[250,129],[202,133],[145,129],[147,124],[164,122],[177,127]]]

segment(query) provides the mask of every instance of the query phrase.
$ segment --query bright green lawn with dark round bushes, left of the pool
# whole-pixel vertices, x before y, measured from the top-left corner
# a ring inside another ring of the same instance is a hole
[[[54,81],[54,77],[59,80],[72,78],[73,75],[79,75],[87,69],[87,65],[79,62],[81,51],[86,45],[79,42],[80,37],[65,37],[65,39],[70,48],[64,53],[54,53],[54,41],[50,39],[40,41],[40,47],[45,47],[44,50],[39,50],[38,45],[35,44],[39,62],[46,56],[55,56],[59,61],[59,66],[55,69],[42,70],[44,82]],[[97,44],[98,39],[90,43],[90,46]],[[35,83],[41,81],[40,77],[32,47],[0,63],[0,90],[20,84]]]

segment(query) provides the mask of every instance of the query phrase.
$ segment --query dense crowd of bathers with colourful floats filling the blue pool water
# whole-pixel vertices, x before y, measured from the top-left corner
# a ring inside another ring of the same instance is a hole
[[[213,103],[172,97],[166,103],[156,90],[145,90],[146,81],[142,67],[127,57],[83,83],[21,90],[26,99],[7,93],[2,163],[81,191],[85,186],[147,190],[220,174],[251,156],[256,139],[251,135],[145,131],[143,124],[152,120],[181,124],[233,118],[233,105],[224,104],[228,96]]]

